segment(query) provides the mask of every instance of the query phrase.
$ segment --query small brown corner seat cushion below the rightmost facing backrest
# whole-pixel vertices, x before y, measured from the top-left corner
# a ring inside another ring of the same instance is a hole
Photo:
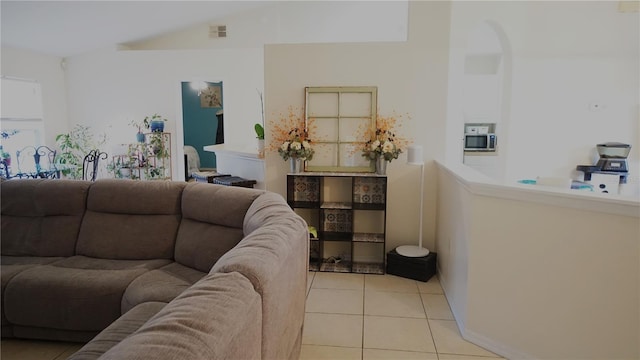
[[[169,302],[206,274],[175,262],[142,274],[127,286],[122,313],[148,301]]]

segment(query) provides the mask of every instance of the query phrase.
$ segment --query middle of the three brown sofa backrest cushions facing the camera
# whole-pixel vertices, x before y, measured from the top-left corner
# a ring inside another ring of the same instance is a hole
[[[76,254],[172,259],[185,186],[177,181],[96,181],[89,189]]]

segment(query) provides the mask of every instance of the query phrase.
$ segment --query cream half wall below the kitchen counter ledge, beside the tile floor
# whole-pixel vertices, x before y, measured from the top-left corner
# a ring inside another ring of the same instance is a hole
[[[438,171],[439,276],[463,337],[509,359],[637,359],[638,202],[471,171]]]

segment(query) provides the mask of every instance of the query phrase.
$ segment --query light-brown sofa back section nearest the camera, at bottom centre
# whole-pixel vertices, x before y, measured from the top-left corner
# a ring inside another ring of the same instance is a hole
[[[259,359],[261,313],[242,275],[207,275],[100,359]]]

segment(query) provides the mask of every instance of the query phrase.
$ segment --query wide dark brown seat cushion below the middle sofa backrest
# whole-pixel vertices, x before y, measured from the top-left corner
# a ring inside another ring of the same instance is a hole
[[[168,260],[108,260],[73,256],[26,269],[7,284],[5,312],[15,325],[99,331],[121,315],[127,286]]]

